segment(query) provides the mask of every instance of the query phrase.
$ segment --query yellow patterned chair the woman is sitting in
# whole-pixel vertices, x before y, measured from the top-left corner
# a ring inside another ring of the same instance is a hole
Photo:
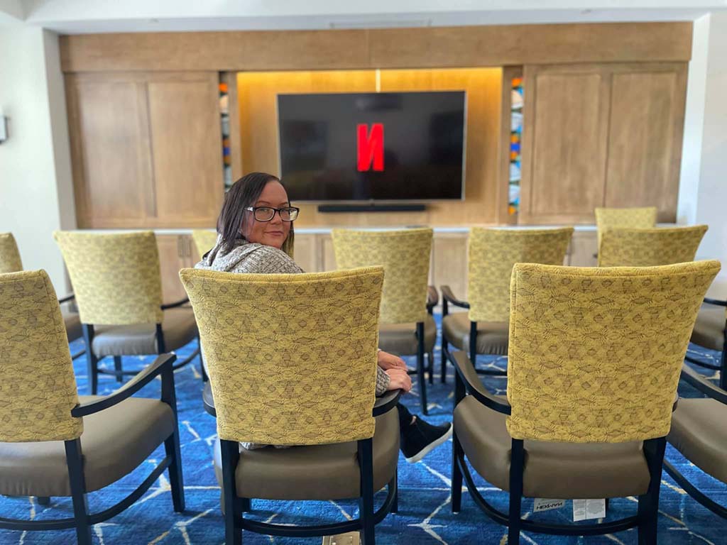
[[[382,267],[300,275],[182,269],[212,384],[225,542],[241,530],[310,537],[361,530],[395,500],[398,392],[374,410]],[[394,410],[390,410],[394,409]],[[238,442],[298,445],[240,448]],[[388,483],[374,514],[373,493]],[[301,528],[246,520],[251,498],[359,498],[361,516]]]

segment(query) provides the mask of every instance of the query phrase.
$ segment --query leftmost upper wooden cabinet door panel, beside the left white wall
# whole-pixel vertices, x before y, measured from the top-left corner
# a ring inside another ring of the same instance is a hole
[[[155,214],[143,84],[66,76],[77,223],[139,227]]]

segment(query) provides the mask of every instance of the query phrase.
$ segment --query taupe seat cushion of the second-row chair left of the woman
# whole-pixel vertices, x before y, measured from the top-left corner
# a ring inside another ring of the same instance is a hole
[[[156,324],[134,326],[95,326],[93,351],[99,358],[112,355],[141,356],[158,354]],[[197,323],[191,308],[181,307],[164,311],[161,323],[167,352],[177,350],[195,339]]]

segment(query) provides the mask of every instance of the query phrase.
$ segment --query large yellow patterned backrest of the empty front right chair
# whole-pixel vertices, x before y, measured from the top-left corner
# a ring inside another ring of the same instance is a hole
[[[512,437],[623,443],[669,432],[702,297],[718,261],[513,269]]]

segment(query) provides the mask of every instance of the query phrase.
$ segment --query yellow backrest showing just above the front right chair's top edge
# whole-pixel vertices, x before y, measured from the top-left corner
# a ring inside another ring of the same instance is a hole
[[[707,225],[608,229],[598,251],[599,267],[656,267],[694,261]]]

